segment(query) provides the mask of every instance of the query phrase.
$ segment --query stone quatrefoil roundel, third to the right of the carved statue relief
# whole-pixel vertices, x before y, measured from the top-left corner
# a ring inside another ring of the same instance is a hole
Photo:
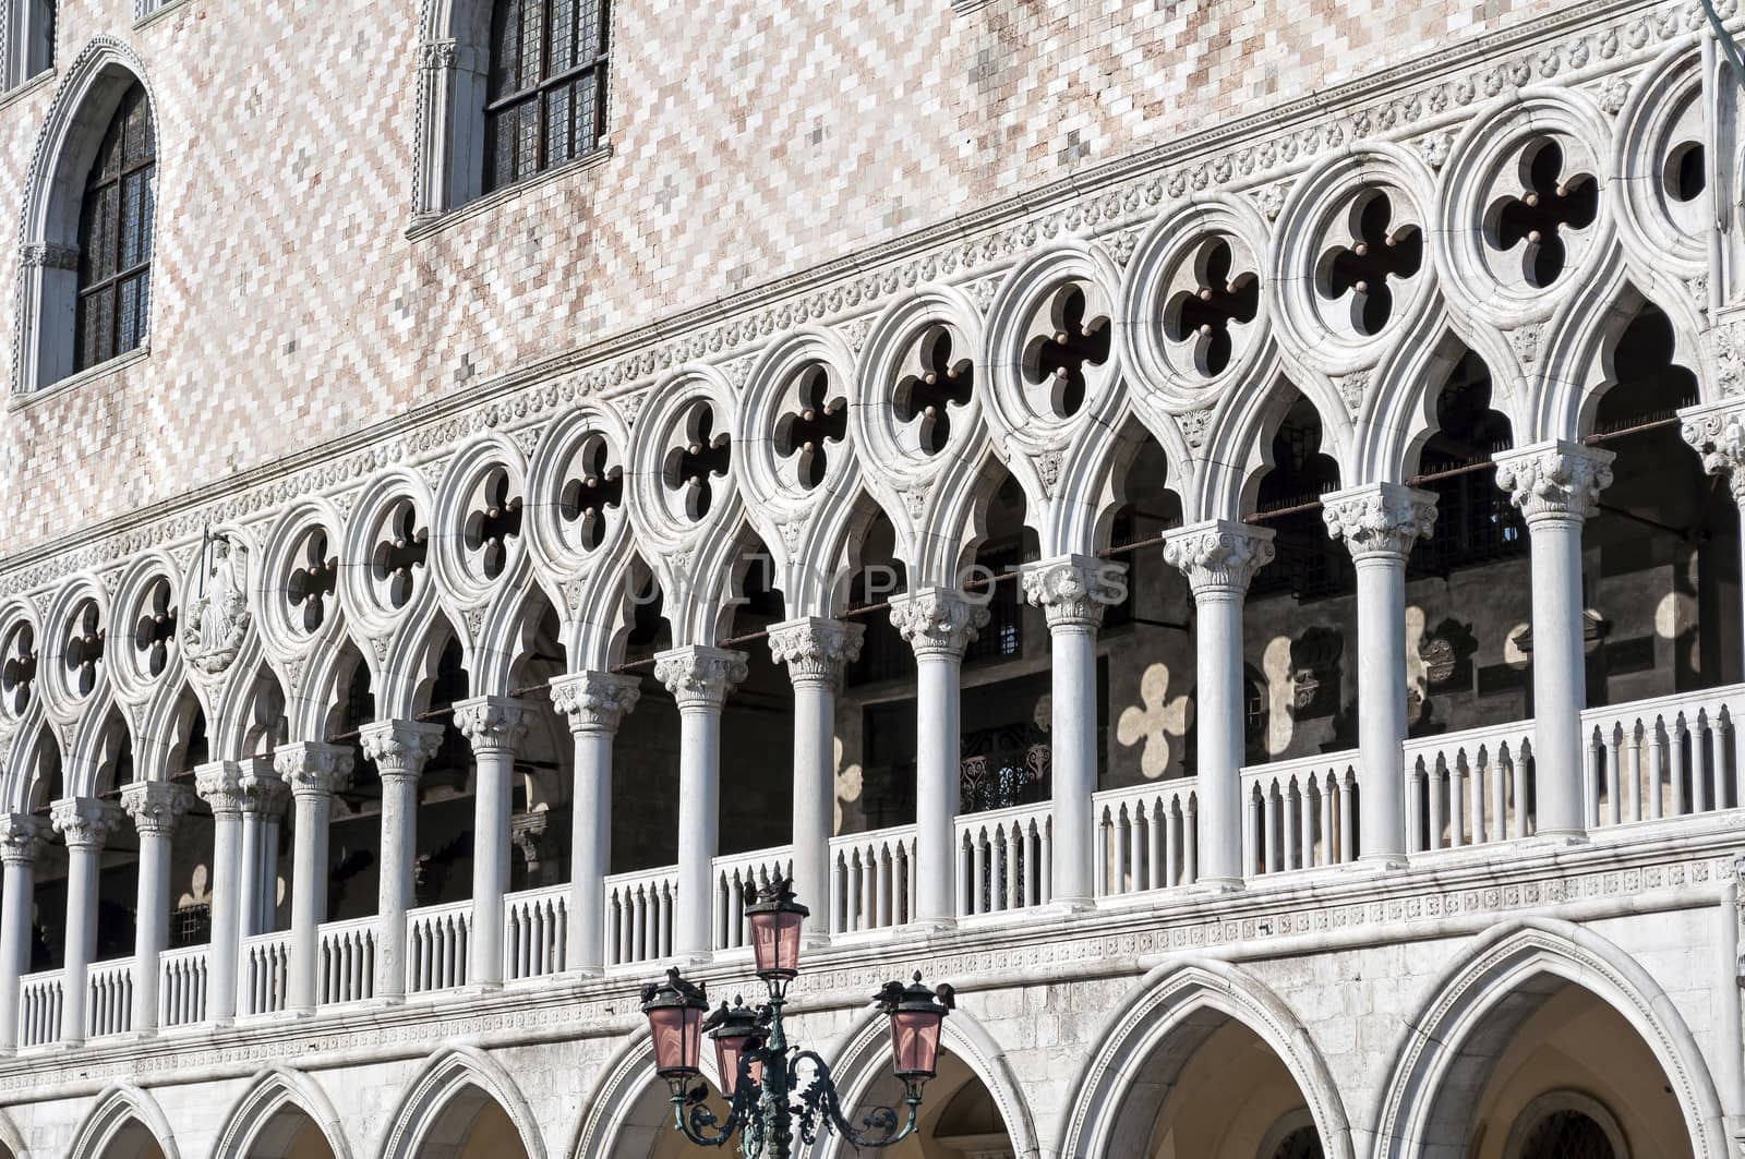
[[[445,595],[476,604],[515,567],[525,548],[525,494],[520,454],[508,440],[487,438],[454,457],[436,492],[436,567]]]

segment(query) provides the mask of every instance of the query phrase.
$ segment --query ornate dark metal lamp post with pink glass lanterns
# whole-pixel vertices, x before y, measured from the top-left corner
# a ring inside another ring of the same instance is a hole
[[[829,1065],[813,1051],[790,1047],[782,1028],[787,986],[799,976],[799,929],[808,913],[794,901],[789,881],[771,883],[745,908],[757,977],[768,988],[768,1000],[756,1009],[735,998],[731,1007],[722,1002],[710,1014],[703,988],[677,969],[667,970],[665,983],[642,988],[654,1073],[672,1089],[674,1126],[700,1147],[726,1147],[738,1136],[745,1159],[789,1159],[796,1129],[808,1147],[831,1131],[855,1147],[890,1147],[914,1133],[921,1087],[939,1070],[939,1028],[951,1012],[951,986],[928,990],[916,974],[911,984],[885,983],[874,995],[890,1018],[892,1065],[902,1079],[907,1114],[876,1107],[859,1129],[850,1126]],[[731,1086],[726,1121],[703,1101],[707,1087],[689,1086],[701,1073],[703,1033],[715,1044],[722,1086]]]

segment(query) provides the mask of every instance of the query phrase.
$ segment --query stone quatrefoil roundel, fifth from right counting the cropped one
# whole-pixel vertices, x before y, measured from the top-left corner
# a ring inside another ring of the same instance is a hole
[[[1117,283],[1089,248],[1056,250],[1005,279],[988,323],[988,415],[1003,435],[1040,449],[1103,408],[1115,381]]]

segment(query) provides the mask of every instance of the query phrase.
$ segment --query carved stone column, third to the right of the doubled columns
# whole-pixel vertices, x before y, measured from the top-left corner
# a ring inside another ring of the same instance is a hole
[[[515,747],[527,737],[529,712],[510,696],[475,696],[454,705],[454,724],[473,745],[473,934],[466,977],[503,984],[503,897],[510,892],[510,803]]]

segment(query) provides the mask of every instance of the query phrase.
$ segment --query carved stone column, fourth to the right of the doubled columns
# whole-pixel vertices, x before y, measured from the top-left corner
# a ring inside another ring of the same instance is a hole
[[[581,974],[606,969],[606,874],[612,869],[612,738],[640,695],[642,682],[633,676],[576,672],[551,681],[551,705],[569,721],[569,735],[576,745],[565,965]]]

